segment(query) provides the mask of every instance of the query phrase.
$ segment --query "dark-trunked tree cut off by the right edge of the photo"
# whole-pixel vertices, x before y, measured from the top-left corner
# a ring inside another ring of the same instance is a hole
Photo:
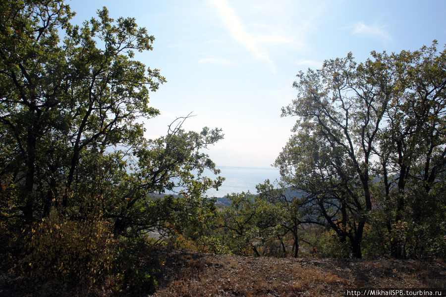
[[[416,244],[398,239],[396,231],[406,223],[422,229],[426,222],[430,222],[428,229],[438,226],[430,218],[445,205],[446,50],[438,52],[434,41],[431,47],[413,52],[373,54],[381,63],[393,65],[393,84],[400,90],[386,110],[387,125],[380,135],[390,254],[415,256],[429,240]],[[426,230],[422,233],[427,234]]]

